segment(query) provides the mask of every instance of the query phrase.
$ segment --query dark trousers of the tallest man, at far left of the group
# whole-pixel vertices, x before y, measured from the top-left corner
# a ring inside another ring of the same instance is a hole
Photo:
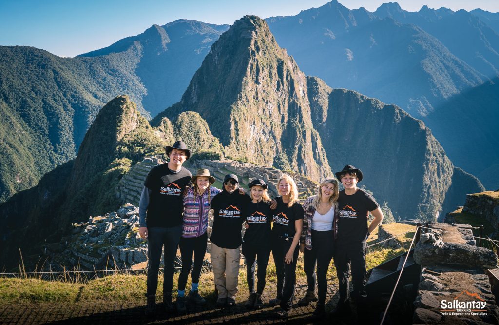
[[[179,248],[182,225],[171,228],[147,228],[147,295],[155,295],[158,289],[159,263],[161,250],[165,246],[165,266],[163,269],[163,293],[171,293],[173,287],[173,273],[175,272],[175,257]]]

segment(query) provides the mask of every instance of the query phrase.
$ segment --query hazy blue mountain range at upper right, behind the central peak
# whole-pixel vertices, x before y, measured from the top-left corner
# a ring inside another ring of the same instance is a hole
[[[456,165],[480,174],[487,187],[499,186],[499,178],[484,176],[499,159],[495,89],[483,87],[480,104],[468,97],[472,89],[494,84],[499,71],[499,34],[481,18],[428,6],[408,12],[397,3],[375,12],[350,10],[333,0],[266,21],[305,73],[397,104],[434,130]],[[453,104],[459,112],[470,111],[467,119],[452,116],[452,98],[462,99]],[[469,127],[474,124],[481,126]],[[456,138],[449,129],[466,132]],[[482,133],[489,135],[485,142]],[[482,160],[482,152],[490,158]]]

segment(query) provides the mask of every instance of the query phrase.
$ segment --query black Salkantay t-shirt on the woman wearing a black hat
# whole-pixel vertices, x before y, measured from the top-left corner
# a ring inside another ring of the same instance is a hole
[[[246,212],[246,222],[249,227],[246,229],[243,241],[245,245],[254,247],[269,246],[270,222],[272,222],[272,210],[270,205],[263,201],[248,204]]]

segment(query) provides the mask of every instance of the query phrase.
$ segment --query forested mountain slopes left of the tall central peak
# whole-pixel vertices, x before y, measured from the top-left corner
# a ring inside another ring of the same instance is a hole
[[[116,95],[129,94],[146,117],[177,101],[227,28],[180,19],[72,58],[0,46],[0,202],[74,158]]]

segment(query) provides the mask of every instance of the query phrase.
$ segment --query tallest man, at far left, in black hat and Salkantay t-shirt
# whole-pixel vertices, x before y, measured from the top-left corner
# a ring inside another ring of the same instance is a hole
[[[166,311],[173,309],[172,288],[174,260],[182,235],[183,190],[192,174],[182,167],[191,156],[183,141],[167,145],[168,163],[152,168],[147,175],[139,203],[139,233],[147,238],[147,304],[146,314],[156,310],[156,290],[161,252],[164,248],[163,303]]]

